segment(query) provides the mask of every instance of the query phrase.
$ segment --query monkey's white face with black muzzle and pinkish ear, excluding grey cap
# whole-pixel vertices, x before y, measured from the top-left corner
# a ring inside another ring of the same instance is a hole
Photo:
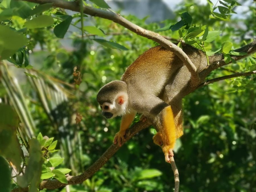
[[[100,105],[102,110],[102,115],[107,119],[116,117],[118,115],[123,115],[127,108],[128,95],[127,93],[119,93],[115,97],[113,103],[104,102]]]

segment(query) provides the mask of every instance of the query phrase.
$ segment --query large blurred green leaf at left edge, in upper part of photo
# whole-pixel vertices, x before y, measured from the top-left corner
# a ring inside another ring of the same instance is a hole
[[[0,59],[8,59],[26,45],[27,38],[12,30],[9,26],[0,25]]]

